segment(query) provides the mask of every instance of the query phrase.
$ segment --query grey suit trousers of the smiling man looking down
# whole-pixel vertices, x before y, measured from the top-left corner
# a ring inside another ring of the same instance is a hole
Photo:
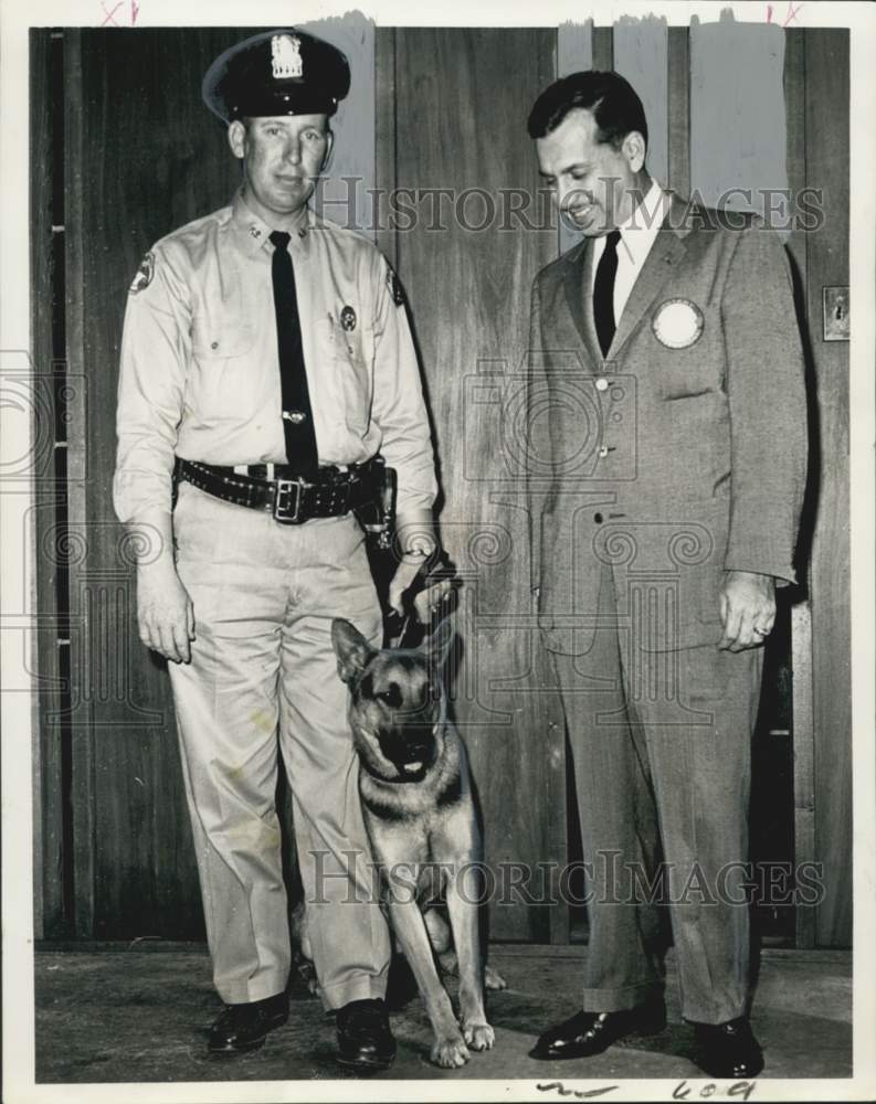
[[[663,903],[683,1016],[721,1023],[748,1000],[745,863],[762,649],[644,651],[646,633],[631,639],[618,616],[608,566],[598,624],[588,652],[553,656],[588,878],[583,1008],[618,1011],[662,990]]]

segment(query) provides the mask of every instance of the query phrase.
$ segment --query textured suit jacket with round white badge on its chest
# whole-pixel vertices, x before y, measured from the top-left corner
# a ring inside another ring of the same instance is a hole
[[[717,643],[725,571],[795,581],[806,411],[788,258],[756,216],[673,195],[603,357],[591,257],[584,240],[532,287],[539,626],[549,649],[585,652],[608,569],[638,647]]]

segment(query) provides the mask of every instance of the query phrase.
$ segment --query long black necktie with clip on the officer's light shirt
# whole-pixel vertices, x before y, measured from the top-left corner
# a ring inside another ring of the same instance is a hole
[[[274,310],[277,316],[277,351],[279,353],[279,389],[283,400],[283,434],[286,458],[299,475],[313,475],[317,468],[316,434],[307,373],[304,369],[302,327],[295,295],[295,273],[288,254],[289,234],[275,230],[271,235],[274,257],[271,275],[274,280]]]

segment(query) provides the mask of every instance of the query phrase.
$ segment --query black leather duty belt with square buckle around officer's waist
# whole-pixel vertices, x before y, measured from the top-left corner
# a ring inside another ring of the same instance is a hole
[[[273,479],[260,478],[267,465],[251,464],[246,475],[234,468],[197,460],[177,459],[176,478],[225,502],[267,510],[284,526],[298,526],[312,518],[339,518],[373,502],[382,465],[369,463],[351,467],[321,468],[314,480],[293,474],[283,464],[273,465]]]

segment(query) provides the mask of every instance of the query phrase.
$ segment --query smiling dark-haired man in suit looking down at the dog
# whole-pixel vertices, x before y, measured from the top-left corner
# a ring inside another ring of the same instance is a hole
[[[583,234],[532,289],[527,475],[590,880],[582,1008],[532,1055],[661,1030],[659,896],[699,1064],[753,1076],[750,740],[806,466],[788,264],[753,216],[651,178],[616,73],[557,81],[529,135]]]

